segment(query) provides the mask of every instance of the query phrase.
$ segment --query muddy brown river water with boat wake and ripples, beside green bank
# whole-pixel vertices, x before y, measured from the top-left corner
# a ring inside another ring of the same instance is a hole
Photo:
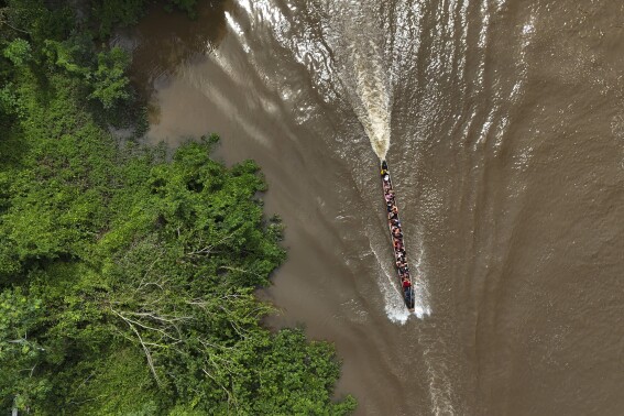
[[[262,166],[288,248],[269,324],[336,343],[358,414],[624,413],[624,3],[236,0],[118,41],[147,141],[217,132]]]

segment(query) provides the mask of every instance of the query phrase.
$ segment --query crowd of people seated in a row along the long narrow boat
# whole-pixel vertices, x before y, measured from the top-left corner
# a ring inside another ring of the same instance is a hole
[[[401,230],[401,220],[398,219],[398,208],[394,199],[394,189],[390,180],[390,174],[385,163],[382,165],[382,183],[385,204],[387,208],[387,221],[392,233],[392,244],[394,247],[394,256],[396,261],[396,269],[401,277],[401,284],[406,303],[412,303],[412,276],[409,274],[409,266],[405,256],[405,244],[403,243],[403,231]]]

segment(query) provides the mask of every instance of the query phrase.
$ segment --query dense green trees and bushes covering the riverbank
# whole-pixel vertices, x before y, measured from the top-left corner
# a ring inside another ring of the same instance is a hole
[[[285,251],[259,166],[214,161],[217,135],[169,160],[110,133],[147,128],[103,46],[147,6],[0,6],[0,412],[349,414],[333,347],[261,326]]]

